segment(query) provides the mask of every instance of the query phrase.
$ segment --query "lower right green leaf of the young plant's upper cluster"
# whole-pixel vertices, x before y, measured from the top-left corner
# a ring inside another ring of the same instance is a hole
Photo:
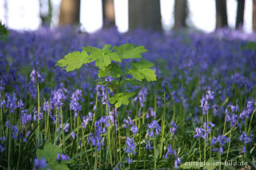
[[[154,66],[154,64],[145,59],[138,62],[134,61],[131,68],[128,70],[128,73],[138,81],[142,81],[142,79],[146,79],[146,81],[156,81],[157,76],[155,75],[155,71],[154,69],[150,69],[152,66]]]

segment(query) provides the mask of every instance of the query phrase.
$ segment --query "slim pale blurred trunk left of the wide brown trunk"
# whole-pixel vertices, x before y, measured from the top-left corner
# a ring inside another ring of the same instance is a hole
[[[47,1],[47,2],[46,2]],[[50,0],[40,0],[40,18],[41,26],[50,26],[51,18],[53,16],[53,6]],[[47,9],[47,11],[45,10]]]

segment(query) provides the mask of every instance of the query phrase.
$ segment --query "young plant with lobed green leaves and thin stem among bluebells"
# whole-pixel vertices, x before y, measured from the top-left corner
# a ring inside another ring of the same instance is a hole
[[[106,90],[106,103],[110,109],[113,109],[115,122],[118,108],[128,105],[130,97],[135,94],[128,92],[126,85],[138,85],[145,81],[157,80],[154,69],[151,69],[154,64],[142,58],[142,53],[146,51],[144,46],[129,43],[120,46],[106,44],[102,49],[86,46],[82,47],[82,52],[74,51],[66,54],[57,65],[64,67],[67,72],[80,69],[85,64],[98,69],[98,85],[106,87],[104,89]],[[124,62],[128,65],[127,69],[122,66]],[[110,89],[110,93],[107,93],[107,89]],[[114,164],[116,164],[116,151],[116,125],[114,123]]]

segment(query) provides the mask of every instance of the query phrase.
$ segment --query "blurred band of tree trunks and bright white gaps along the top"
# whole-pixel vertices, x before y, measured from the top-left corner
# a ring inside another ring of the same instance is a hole
[[[169,31],[191,28],[256,30],[255,0],[1,0],[0,19],[9,29],[77,25],[93,33],[117,26]]]

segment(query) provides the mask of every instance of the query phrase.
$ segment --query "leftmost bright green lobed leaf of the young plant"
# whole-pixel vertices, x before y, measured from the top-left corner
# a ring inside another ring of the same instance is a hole
[[[73,71],[74,69],[80,69],[83,64],[89,63],[90,60],[89,55],[82,51],[74,51],[72,53],[66,54],[64,58],[58,61],[57,65],[60,67],[66,67],[66,71]]]

